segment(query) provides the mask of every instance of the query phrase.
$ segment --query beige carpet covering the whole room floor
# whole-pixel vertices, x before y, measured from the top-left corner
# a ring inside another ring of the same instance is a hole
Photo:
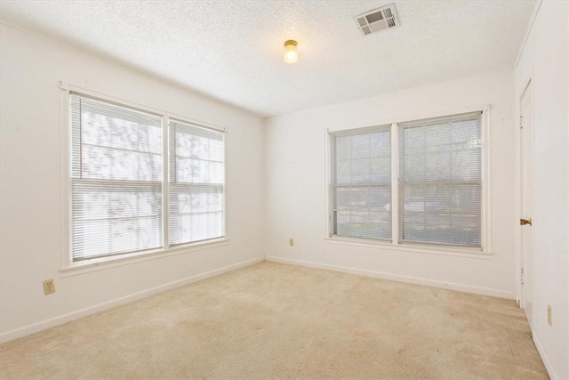
[[[259,263],[0,346],[0,378],[548,378],[514,301]]]

